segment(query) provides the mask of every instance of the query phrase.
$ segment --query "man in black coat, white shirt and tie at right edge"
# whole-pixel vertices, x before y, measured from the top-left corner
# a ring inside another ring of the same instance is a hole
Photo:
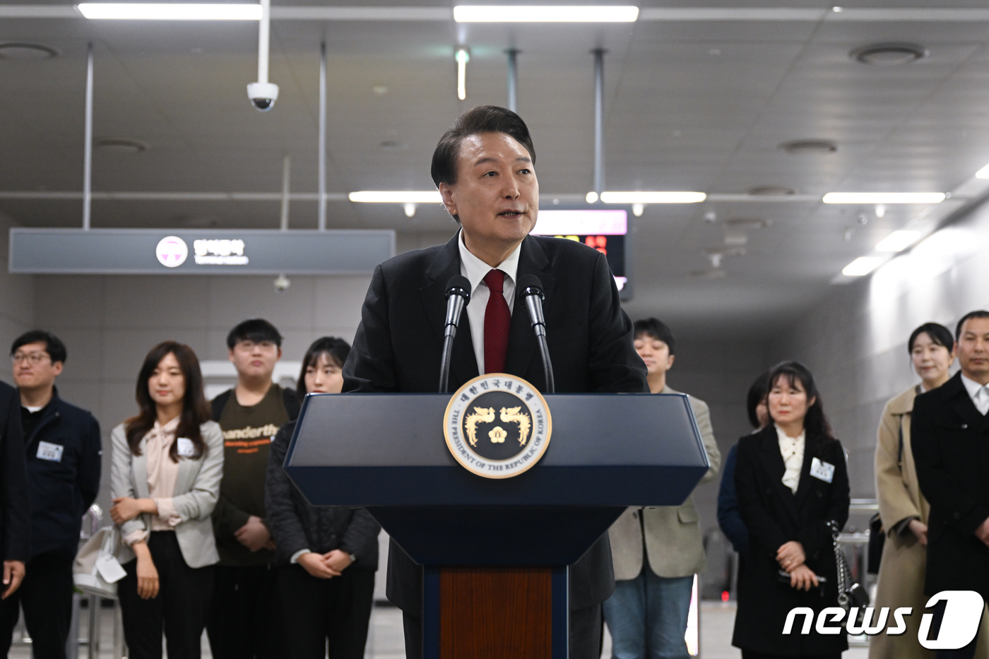
[[[910,425],[917,480],[931,503],[924,594],[976,591],[989,600],[989,311],[963,316],[954,335],[961,371],[917,397]],[[970,659],[975,641],[938,657]]]

